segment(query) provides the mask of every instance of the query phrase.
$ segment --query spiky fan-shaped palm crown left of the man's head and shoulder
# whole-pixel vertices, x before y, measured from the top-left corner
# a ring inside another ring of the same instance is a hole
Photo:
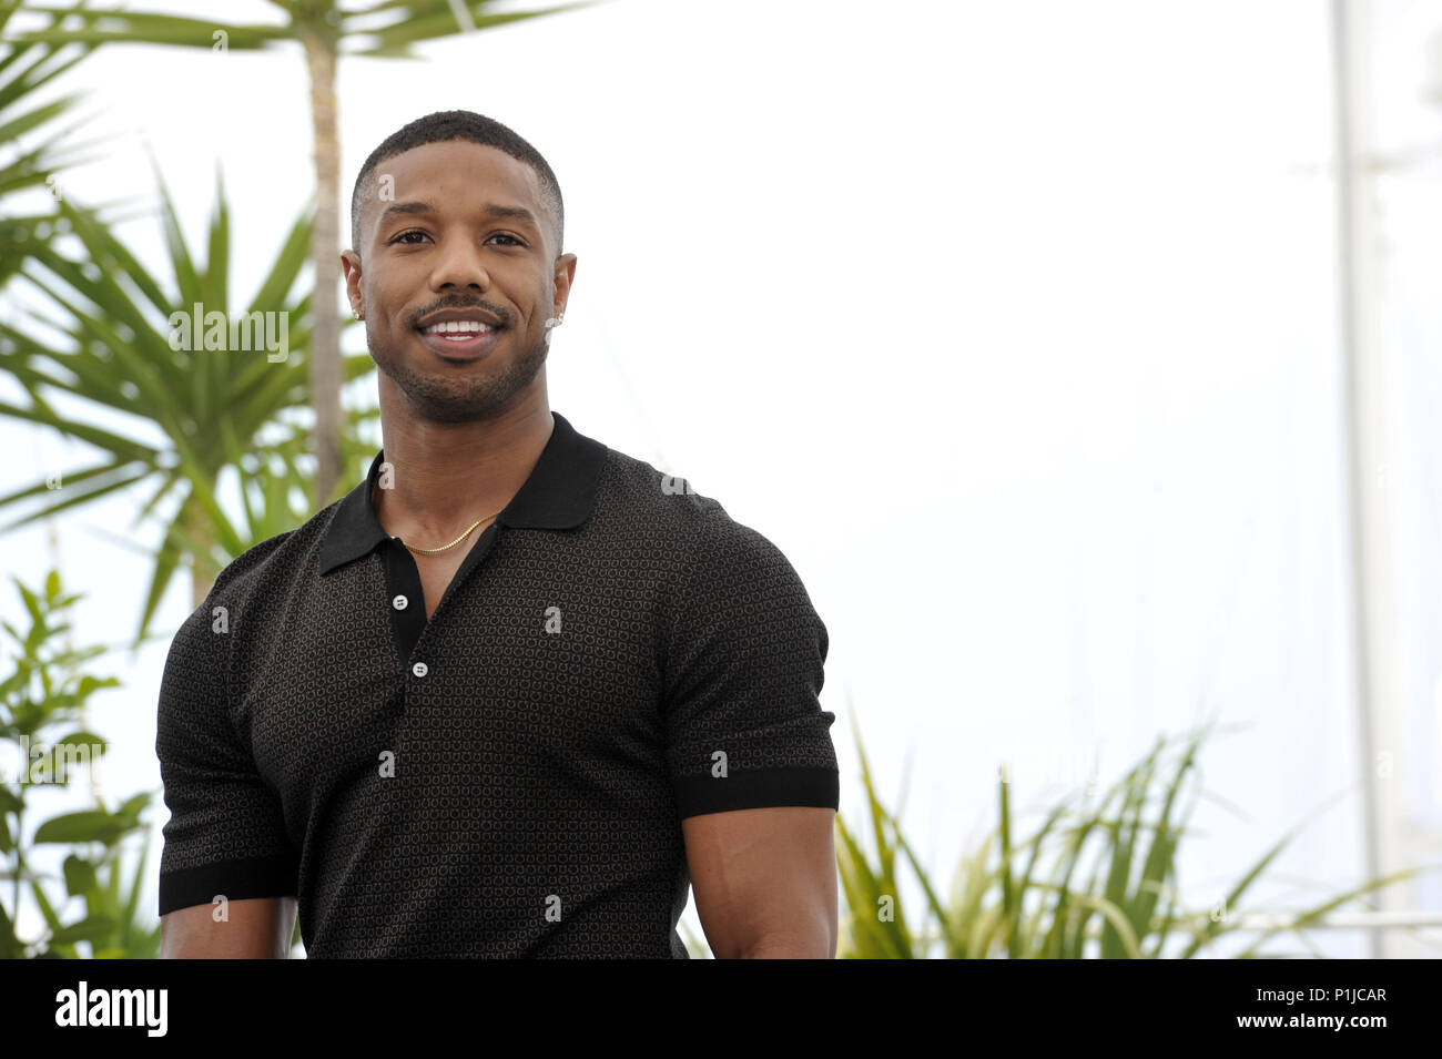
[[[301,359],[281,360],[265,350],[177,350],[173,341],[176,314],[189,317],[199,303],[206,320],[213,311],[226,321],[280,321],[287,350],[306,349],[316,314],[309,294],[297,298],[291,291],[306,264],[310,218],[294,222],[254,298],[241,314],[232,314],[231,215],[219,171],[208,261],[192,256],[159,171],[156,179],[163,200],[170,290],[157,284],[104,223],[62,200],[59,212],[79,239],[81,254],[69,256],[55,246],[35,246],[33,261],[19,278],[48,301],[45,313],[30,313],[32,320],[62,330],[71,349],[58,352],[55,343],[30,330],[0,323],[0,370],[13,375],[29,396],[26,406],[0,402],[0,415],[52,426],[104,454],[94,465],[66,473],[61,490],[42,480],[0,497],[0,507],[45,497],[39,510],[0,532],[131,486],[150,490],[137,520],[163,501],[174,503],[174,514],[154,553],[137,644],[146,637],[183,556],[192,559],[192,605],[199,605],[229,558],[294,529],[324,503],[313,491],[313,480],[298,470],[300,457],[313,442],[303,418],[311,392]],[[261,316],[255,317],[257,313]],[[369,354],[346,357],[348,382],[372,369]],[[65,415],[53,406],[55,396],[78,399],[92,415]],[[149,428],[146,434],[162,439],[137,441],[130,432],[101,425],[115,412],[134,416],[137,425]],[[355,424],[371,414],[371,409],[353,412],[345,432],[343,458],[353,478],[363,473],[372,454]],[[216,500],[226,471],[239,478],[244,510],[239,524]]]

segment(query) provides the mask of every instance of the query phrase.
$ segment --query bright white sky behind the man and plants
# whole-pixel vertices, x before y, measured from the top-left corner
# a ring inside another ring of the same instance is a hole
[[[1435,141],[1417,32],[1442,9],[1380,9],[1386,91],[1413,104],[1383,135]],[[551,406],[790,558],[831,631],[848,818],[848,702],[893,805],[910,761],[906,824],[943,883],[995,816],[999,756],[1034,804],[1048,754],[1099,748],[1110,779],[1220,709],[1247,728],[1204,752],[1204,779],[1237,813],[1198,810],[1184,896],[1211,903],[1343,794],[1259,893],[1317,902],[1361,870],[1327,33],[1317,0],[619,0],[423,45],[425,62],[342,63],[342,202],[375,144],[435,110],[547,156],[580,258]],[[248,297],[311,195],[300,52],[112,48],[74,84],[99,89],[114,140],[66,193],[149,199],[149,143],[199,246],[219,160]],[[124,235],[163,261],[153,220]],[[1430,290],[1415,331],[1435,343]],[[0,437],[4,491],[85,458]],[[133,510],[59,520],[89,592],[81,643],[137,620],[149,566],[101,536]],[[36,582],[43,532],[6,555]],[[189,612],[183,581],[159,628]],[[13,591],[0,614],[22,614]],[[112,658],[125,687],[94,700],[115,794],[159,790],[166,645]]]

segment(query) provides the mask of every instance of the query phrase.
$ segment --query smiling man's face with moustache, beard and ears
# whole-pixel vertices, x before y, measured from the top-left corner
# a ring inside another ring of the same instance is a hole
[[[545,321],[565,308],[575,255],[557,256],[536,173],[495,147],[451,140],[386,158],[373,176],[360,255],[342,255],[346,291],[365,313],[371,356],[414,415],[489,419],[544,388]],[[451,320],[490,330],[423,330]]]

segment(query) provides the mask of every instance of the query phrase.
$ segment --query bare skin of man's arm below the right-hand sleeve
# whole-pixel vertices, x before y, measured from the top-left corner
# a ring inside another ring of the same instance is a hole
[[[696,913],[718,960],[833,960],[836,813],[809,805],[681,821]]]

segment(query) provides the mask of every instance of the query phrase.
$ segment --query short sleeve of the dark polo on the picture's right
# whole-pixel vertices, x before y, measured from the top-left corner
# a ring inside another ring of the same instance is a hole
[[[671,602],[666,756],[681,818],[767,805],[838,808],[820,707],[826,627],[792,563],[715,501]]]

